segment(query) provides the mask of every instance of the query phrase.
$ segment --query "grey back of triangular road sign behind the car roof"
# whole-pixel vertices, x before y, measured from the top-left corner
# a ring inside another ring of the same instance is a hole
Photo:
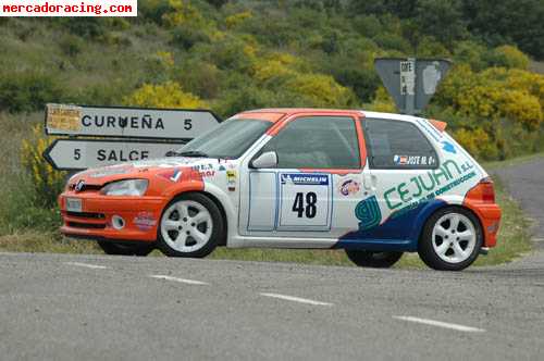
[[[399,112],[418,114],[429,103],[452,62],[443,59],[381,58],[378,74]]]

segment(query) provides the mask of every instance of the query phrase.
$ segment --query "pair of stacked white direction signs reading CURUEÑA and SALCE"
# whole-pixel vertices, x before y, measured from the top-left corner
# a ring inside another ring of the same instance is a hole
[[[206,110],[48,104],[46,134],[69,138],[54,140],[44,158],[62,171],[162,158],[219,122]]]

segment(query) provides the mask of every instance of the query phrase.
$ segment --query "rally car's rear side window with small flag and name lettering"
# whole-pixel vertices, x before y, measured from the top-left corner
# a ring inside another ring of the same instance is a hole
[[[429,139],[411,123],[395,120],[363,120],[369,163],[373,169],[425,170],[438,166]]]

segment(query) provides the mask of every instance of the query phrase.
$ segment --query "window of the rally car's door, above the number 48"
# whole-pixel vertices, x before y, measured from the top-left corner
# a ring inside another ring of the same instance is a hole
[[[355,121],[347,116],[299,117],[261,150],[277,153],[281,169],[359,169]]]

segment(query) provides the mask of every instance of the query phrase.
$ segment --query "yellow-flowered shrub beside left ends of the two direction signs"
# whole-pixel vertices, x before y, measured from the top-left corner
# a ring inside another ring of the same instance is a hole
[[[44,152],[53,141],[46,137],[42,125],[33,127],[32,136],[23,139],[21,145],[21,164],[30,177],[36,190],[36,206],[53,208],[57,197],[62,191],[66,172],[59,172],[44,159]]]

